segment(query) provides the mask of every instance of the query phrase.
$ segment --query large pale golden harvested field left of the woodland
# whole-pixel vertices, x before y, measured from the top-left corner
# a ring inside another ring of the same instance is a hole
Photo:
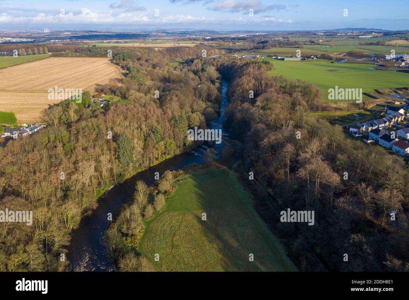
[[[61,101],[49,100],[48,89],[94,92],[122,74],[108,58],[53,57],[1,69],[0,77],[0,111],[13,111],[18,122],[36,122],[43,109]]]

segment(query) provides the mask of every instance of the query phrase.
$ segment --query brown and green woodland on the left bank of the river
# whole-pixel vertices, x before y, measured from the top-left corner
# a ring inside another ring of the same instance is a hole
[[[135,172],[196,147],[187,129],[207,128],[217,117],[220,76],[200,49],[200,58],[178,66],[174,58],[193,49],[133,51],[134,60],[117,63],[138,76],[101,87],[121,102],[88,109],[65,100],[44,111],[46,128],[0,148],[0,209],[32,210],[34,218],[32,226],[0,224],[1,271],[64,270],[70,232],[96,199]],[[139,207],[144,216],[158,209],[150,205]]]

